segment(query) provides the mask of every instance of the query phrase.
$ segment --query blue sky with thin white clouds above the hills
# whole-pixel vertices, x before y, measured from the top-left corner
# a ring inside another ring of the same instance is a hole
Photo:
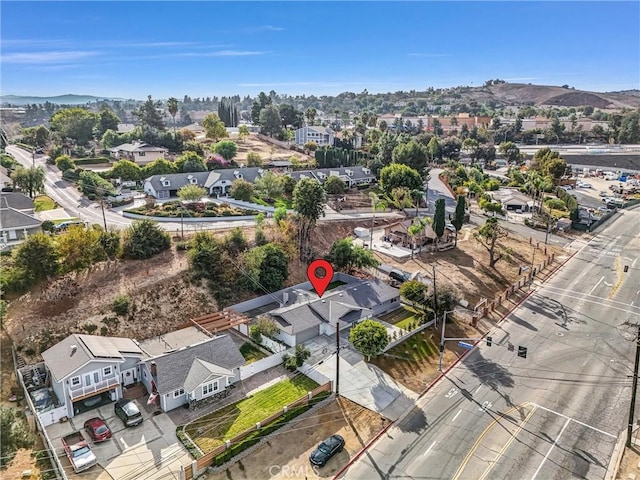
[[[3,95],[640,87],[640,2],[2,2]]]

